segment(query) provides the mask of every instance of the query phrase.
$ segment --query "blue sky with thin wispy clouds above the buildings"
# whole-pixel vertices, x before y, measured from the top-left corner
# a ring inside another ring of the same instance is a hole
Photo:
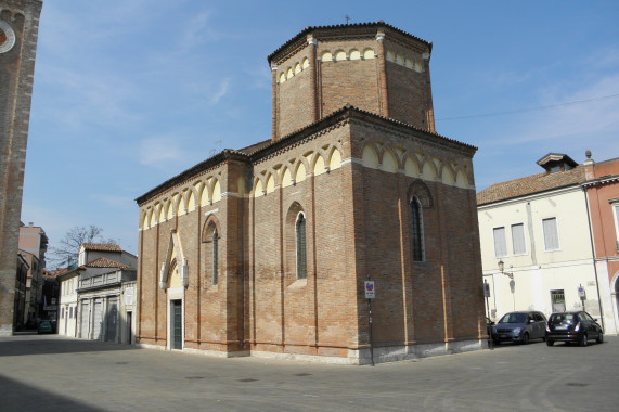
[[[619,156],[617,1],[44,0],[22,220],[137,254],[133,199],[269,139],[266,56],[347,15],[434,42],[437,132],[479,147],[478,191],[549,152]]]

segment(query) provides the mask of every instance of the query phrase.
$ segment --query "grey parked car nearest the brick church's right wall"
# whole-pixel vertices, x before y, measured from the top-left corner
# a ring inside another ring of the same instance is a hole
[[[542,312],[505,313],[492,327],[494,345],[516,342],[527,345],[530,339],[545,339],[546,317]]]

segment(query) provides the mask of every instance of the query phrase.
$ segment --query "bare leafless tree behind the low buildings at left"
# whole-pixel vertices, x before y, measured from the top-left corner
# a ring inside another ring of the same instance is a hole
[[[79,246],[82,243],[117,243],[112,237],[104,239],[102,233],[103,229],[94,224],[91,224],[88,228],[76,226],[66,232],[64,237],[59,241],[57,246],[50,247],[50,257],[46,260],[55,268],[70,268],[72,266],[77,265]]]

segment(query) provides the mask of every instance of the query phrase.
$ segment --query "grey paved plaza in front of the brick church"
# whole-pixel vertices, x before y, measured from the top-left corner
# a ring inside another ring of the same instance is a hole
[[[619,338],[374,368],[0,338],[2,411],[615,411]]]

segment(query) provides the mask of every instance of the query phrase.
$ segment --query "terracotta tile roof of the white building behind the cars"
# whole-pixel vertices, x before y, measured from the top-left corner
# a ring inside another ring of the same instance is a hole
[[[488,189],[477,193],[477,205],[580,184],[585,180],[584,167],[581,165],[567,171],[556,171],[553,173],[544,171],[538,175],[492,184]]]

